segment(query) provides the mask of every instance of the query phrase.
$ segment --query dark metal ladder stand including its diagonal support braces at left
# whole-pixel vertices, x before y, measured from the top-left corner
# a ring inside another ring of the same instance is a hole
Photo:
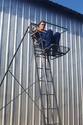
[[[31,25],[33,25],[33,23],[30,24],[30,26]],[[14,76],[14,74],[12,74],[12,72],[10,71],[10,66],[13,63],[13,60],[16,57],[16,54],[21,46],[21,43],[23,42],[24,37],[28,32],[28,29],[30,29],[30,26],[26,29],[25,34],[23,38],[21,39],[20,44],[15,54],[13,55],[13,58],[11,59],[8,65],[8,68],[3,76],[3,79],[0,83],[0,87],[1,87],[1,85],[4,83],[4,79],[6,75],[9,72],[13,76],[13,78],[16,80],[16,82],[19,84],[19,86],[21,86],[24,92],[28,95],[29,93],[26,92],[26,89],[19,83],[19,81]],[[52,57],[51,49],[52,48],[50,48],[50,53],[49,52],[44,53],[43,50],[39,47],[39,45],[35,44],[34,39],[33,39],[33,49],[34,49],[34,57],[35,57],[35,64],[36,64],[38,88],[39,88],[40,99],[41,99],[41,116],[42,116],[41,125],[62,125],[54,80],[53,80],[52,71],[51,71],[51,57]],[[58,57],[61,57],[65,55],[68,51],[69,51],[69,48],[65,52],[60,52],[60,53],[56,52],[56,55],[54,58],[56,59]],[[15,98],[13,100],[15,100]],[[38,107],[38,105],[36,104],[36,101],[34,101],[34,103]],[[2,107],[1,110],[5,108],[8,104]]]

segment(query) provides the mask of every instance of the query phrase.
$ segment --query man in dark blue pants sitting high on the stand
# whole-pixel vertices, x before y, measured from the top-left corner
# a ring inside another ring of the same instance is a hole
[[[38,39],[42,39],[40,42],[40,47],[43,49],[49,48],[51,44],[56,44],[59,46],[60,41],[60,33],[56,32],[53,34],[53,31],[51,29],[45,30],[46,22],[40,21],[37,25],[35,36]],[[40,40],[39,40],[40,41]]]

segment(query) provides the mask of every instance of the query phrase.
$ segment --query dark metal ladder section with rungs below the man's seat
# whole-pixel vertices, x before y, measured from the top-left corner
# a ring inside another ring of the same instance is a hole
[[[34,41],[33,47],[44,125],[62,125],[49,56],[43,54],[42,49],[35,45]]]

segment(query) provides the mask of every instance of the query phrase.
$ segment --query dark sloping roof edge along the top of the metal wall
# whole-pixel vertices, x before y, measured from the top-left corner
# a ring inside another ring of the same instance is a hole
[[[80,21],[83,21],[83,14],[74,11],[68,7],[65,7],[63,5],[60,5],[58,3],[55,3],[53,1],[42,1],[42,0],[31,0],[30,2],[34,3],[34,4],[39,4],[40,6],[43,5],[43,7],[48,7],[51,8],[51,10],[57,10],[58,12],[62,12],[65,14],[69,14],[70,17],[73,17],[75,19],[80,19]]]

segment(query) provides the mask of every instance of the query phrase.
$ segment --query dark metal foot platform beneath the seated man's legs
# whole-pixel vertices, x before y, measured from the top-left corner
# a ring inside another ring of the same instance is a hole
[[[53,57],[52,59],[56,59],[61,56],[64,56],[70,51],[69,47],[58,46],[56,44],[51,44],[51,46],[45,49],[41,49],[38,44],[35,44],[34,46],[36,48],[35,49],[36,55],[50,56],[50,57]]]

